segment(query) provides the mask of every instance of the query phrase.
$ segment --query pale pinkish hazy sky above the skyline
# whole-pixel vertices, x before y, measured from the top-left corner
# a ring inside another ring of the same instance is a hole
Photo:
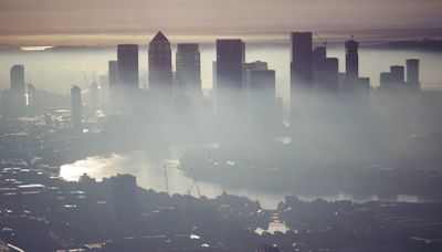
[[[440,29],[441,0],[0,0],[0,36]]]

